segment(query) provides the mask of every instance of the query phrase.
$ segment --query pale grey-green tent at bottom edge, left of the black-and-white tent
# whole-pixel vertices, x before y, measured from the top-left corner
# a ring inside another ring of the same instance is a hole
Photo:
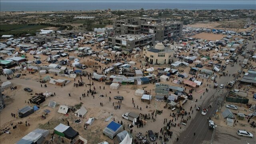
[[[46,138],[49,133],[49,130],[42,130],[37,128],[36,130],[21,138],[16,144],[42,144],[44,138]]]

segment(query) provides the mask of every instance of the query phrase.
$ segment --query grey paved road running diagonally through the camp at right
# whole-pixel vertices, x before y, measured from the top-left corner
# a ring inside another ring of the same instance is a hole
[[[247,45],[247,48],[249,50],[252,50],[253,45],[255,43],[253,43],[253,41],[250,41],[249,44]],[[247,52],[245,50],[245,52]],[[246,56],[248,56],[248,54],[246,54]],[[244,57],[241,55],[238,55],[238,60],[241,60],[241,62],[244,60]],[[227,65],[226,67],[226,71],[228,71],[228,74],[230,74],[231,76],[222,76],[222,77],[218,77],[216,78],[217,83],[220,84],[224,84],[226,85],[227,82],[230,82],[231,80],[234,80],[235,78],[232,77],[232,74],[236,74],[236,76],[238,75],[237,71],[238,70],[242,70],[242,67],[239,66],[239,62],[236,64],[234,63],[234,66],[232,67],[230,64]],[[212,82],[213,85],[213,82]],[[209,88],[209,87],[208,87]],[[205,96],[207,96],[206,100],[204,100],[204,102],[202,103],[202,107],[207,108],[207,106],[209,104],[212,105],[212,108],[208,109],[208,112],[206,114],[206,116],[203,116],[201,114],[201,111],[196,111],[198,112],[196,114],[196,117],[190,122],[188,128],[182,132],[179,136],[179,141],[178,143],[180,144],[201,144],[203,141],[208,141],[210,142],[211,137],[212,137],[212,130],[210,130],[208,128],[208,121],[207,118],[208,116],[212,116],[217,108],[218,108],[218,96],[220,96],[222,94],[222,90],[224,90],[224,93],[226,94],[227,90],[226,89],[222,89],[220,90],[220,88],[214,89],[213,86],[210,88],[209,92],[205,94]],[[218,131],[218,128],[217,128]],[[196,135],[194,136],[194,132],[196,132]],[[218,137],[218,134],[216,134]],[[219,136],[220,137],[220,136]]]

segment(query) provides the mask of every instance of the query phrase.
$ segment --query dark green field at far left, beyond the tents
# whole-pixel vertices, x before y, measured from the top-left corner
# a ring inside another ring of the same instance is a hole
[[[0,24],[0,35],[3,34],[22,34],[27,32],[28,34],[33,34],[39,32],[40,29],[47,28],[49,26],[41,25],[27,25],[27,24]]]

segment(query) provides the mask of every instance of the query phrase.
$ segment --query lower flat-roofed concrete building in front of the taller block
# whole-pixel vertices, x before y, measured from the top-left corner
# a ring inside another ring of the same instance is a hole
[[[108,36],[108,43],[112,46],[120,46],[123,49],[130,49],[136,47],[143,47],[145,45],[152,45],[155,41],[155,34],[124,34],[120,36]]]

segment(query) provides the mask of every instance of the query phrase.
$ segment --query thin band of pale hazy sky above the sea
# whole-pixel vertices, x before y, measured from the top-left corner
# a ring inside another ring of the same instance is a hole
[[[0,0],[0,2],[21,2],[21,0]],[[179,4],[254,4],[256,0],[22,0],[22,2],[150,2]]]

